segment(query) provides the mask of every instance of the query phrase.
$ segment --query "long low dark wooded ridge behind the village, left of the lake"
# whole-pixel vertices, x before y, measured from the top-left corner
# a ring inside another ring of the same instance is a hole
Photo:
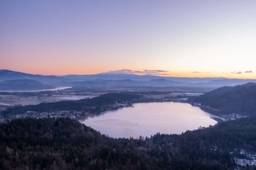
[[[17,115],[22,114],[27,111],[36,111],[36,112],[55,112],[62,110],[83,110],[87,107],[99,107],[106,104],[115,104],[116,100],[129,102],[133,99],[137,99],[141,97],[137,94],[124,94],[124,93],[107,93],[100,95],[98,97],[94,97],[91,99],[81,99],[76,101],[59,101],[59,102],[51,102],[51,103],[40,103],[36,105],[27,105],[27,106],[17,106],[13,108],[8,108],[6,111],[2,111],[3,115]]]

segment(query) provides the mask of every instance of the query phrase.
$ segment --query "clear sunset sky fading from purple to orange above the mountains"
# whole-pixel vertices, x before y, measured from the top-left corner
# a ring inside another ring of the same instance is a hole
[[[256,78],[256,1],[0,1],[0,69]]]

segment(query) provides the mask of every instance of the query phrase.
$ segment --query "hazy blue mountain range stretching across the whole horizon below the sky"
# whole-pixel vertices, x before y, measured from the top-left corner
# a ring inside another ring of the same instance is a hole
[[[221,86],[235,86],[249,82],[256,83],[255,79],[227,79],[225,77],[165,77],[156,75],[136,75],[136,74],[120,74],[120,73],[100,73],[89,75],[35,75],[22,73],[11,70],[0,70],[0,81],[19,80],[35,80],[45,85],[53,86],[72,86],[72,87],[168,87],[182,89],[200,89],[206,88],[213,90]],[[28,83],[24,81],[24,83]],[[28,83],[29,84],[29,83]],[[31,84],[31,83],[30,83]],[[33,84],[33,83],[32,83]],[[35,85],[36,86],[36,85]],[[32,86],[28,86],[33,89]],[[48,86],[50,87],[50,86]],[[35,87],[37,88],[37,87]],[[5,86],[3,89],[14,89]],[[19,87],[15,87],[19,89]],[[45,89],[45,88],[44,88]]]

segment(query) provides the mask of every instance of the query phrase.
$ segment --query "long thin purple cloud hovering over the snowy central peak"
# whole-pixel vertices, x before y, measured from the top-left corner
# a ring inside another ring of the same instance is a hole
[[[122,69],[122,70],[109,70],[109,71],[103,72],[103,73],[168,75],[167,72],[169,72],[169,71],[165,71],[165,70],[145,70],[145,69],[143,69],[143,71],[138,71],[138,70]]]

